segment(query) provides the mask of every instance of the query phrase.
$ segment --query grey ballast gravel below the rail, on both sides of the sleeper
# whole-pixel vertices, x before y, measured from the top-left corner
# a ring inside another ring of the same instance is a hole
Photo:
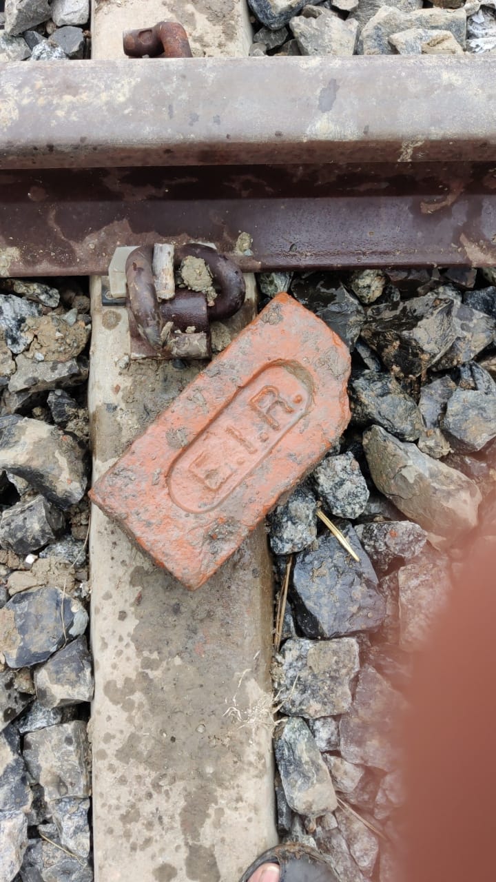
[[[351,422],[268,519],[278,829],[393,882],[391,720],[496,480],[496,273],[259,275],[351,351]],[[0,882],[89,882],[86,280],[0,281]],[[318,517],[339,527],[349,556]]]

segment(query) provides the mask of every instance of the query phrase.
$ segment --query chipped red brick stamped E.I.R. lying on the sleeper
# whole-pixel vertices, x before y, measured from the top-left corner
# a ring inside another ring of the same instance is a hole
[[[198,588],[340,437],[348,376],[342,340],[280,294],[90,496],[156,564]]]

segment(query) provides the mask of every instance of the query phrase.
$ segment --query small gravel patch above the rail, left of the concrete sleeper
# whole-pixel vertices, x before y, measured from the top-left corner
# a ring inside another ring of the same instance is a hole
[[[89,58],[90,0],[2,0],[0,62]]]

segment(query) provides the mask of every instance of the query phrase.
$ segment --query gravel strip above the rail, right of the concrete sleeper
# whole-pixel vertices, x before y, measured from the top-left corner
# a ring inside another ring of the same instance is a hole
[[[250,55],[459,55],[496,51],[496,0],[248,0]]]

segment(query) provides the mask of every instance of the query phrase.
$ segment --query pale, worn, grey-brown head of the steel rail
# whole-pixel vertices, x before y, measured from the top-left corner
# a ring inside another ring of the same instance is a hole
[[[496,56],[0,64],[0,168],[496,161]]]

